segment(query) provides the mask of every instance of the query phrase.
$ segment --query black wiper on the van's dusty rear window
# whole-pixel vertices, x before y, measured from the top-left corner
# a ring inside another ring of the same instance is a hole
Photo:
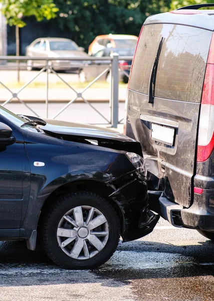
[[[157,65],[159,61],[159,56],[160,56],[160,51],[162,47],[164,38],[162,37],[159,46],[157,48],[157,53],[153,62],[153,66],[151,69],[151,75],[150,75],[150,80],[149,80],[149,85],[148,85],[148,103],[154,103],[154,89],[155,89],[155,81],[156,81],[156,74],[157,74]]]

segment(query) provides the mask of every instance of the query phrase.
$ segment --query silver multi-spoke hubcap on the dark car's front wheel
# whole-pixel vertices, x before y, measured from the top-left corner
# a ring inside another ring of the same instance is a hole
[[[56,235],[58,245],[66,255],[74,259],[89,259],[104,248],[109,228],[99,210],[78,206],[64,214]]]

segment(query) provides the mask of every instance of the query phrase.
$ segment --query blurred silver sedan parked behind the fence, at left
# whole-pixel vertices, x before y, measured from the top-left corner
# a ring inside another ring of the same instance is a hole
[[[78,47],[75,42],[64,38],[39,38],[34,40],[26,47],[26,56],[29,57],[87,57],[84,48]],[[71,61],[71,60],[55,60],[48,61],[48,65],[54,70],[80,70],[84,66],[85,61]],[[46,65],[44,60],[27,60],[27,70],[33,68],[43,68]]]

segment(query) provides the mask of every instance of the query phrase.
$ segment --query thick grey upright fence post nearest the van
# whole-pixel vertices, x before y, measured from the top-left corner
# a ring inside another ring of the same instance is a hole
[[[111,126],[118,124],[118,88],[119,88],[119,61],[118,53],[112,53],[111,62]]]

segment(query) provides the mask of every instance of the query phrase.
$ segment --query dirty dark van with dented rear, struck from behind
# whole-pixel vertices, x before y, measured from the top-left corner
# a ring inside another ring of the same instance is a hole
[[[150,16],[129,78],[124,132],[141,143],[150,208],[214,240],[214,7]]]

